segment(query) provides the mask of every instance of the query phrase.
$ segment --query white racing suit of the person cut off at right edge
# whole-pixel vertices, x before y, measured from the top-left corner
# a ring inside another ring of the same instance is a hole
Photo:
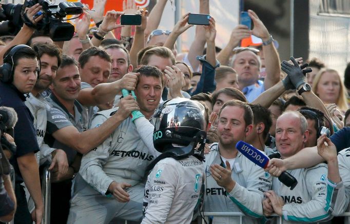
[[[327,203],[325,210],[335,216],[341,216],[350,211],[350,148],[338,153],[338,165],[341,182],[335,184],[327,179]],[[350,217],[345,217],[344,223],[350,223]]]

